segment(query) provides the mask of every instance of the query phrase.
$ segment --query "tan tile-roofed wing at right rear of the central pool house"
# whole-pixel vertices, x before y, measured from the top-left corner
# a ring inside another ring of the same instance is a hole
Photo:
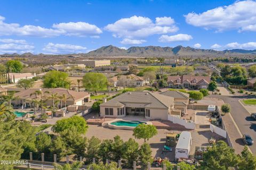
[[[179,109],[182,113],[187,113],[187,107],[189,103],[189,94],[180,91],[165,91],[161,92],[161,95],[174,98],[174,108]]]

